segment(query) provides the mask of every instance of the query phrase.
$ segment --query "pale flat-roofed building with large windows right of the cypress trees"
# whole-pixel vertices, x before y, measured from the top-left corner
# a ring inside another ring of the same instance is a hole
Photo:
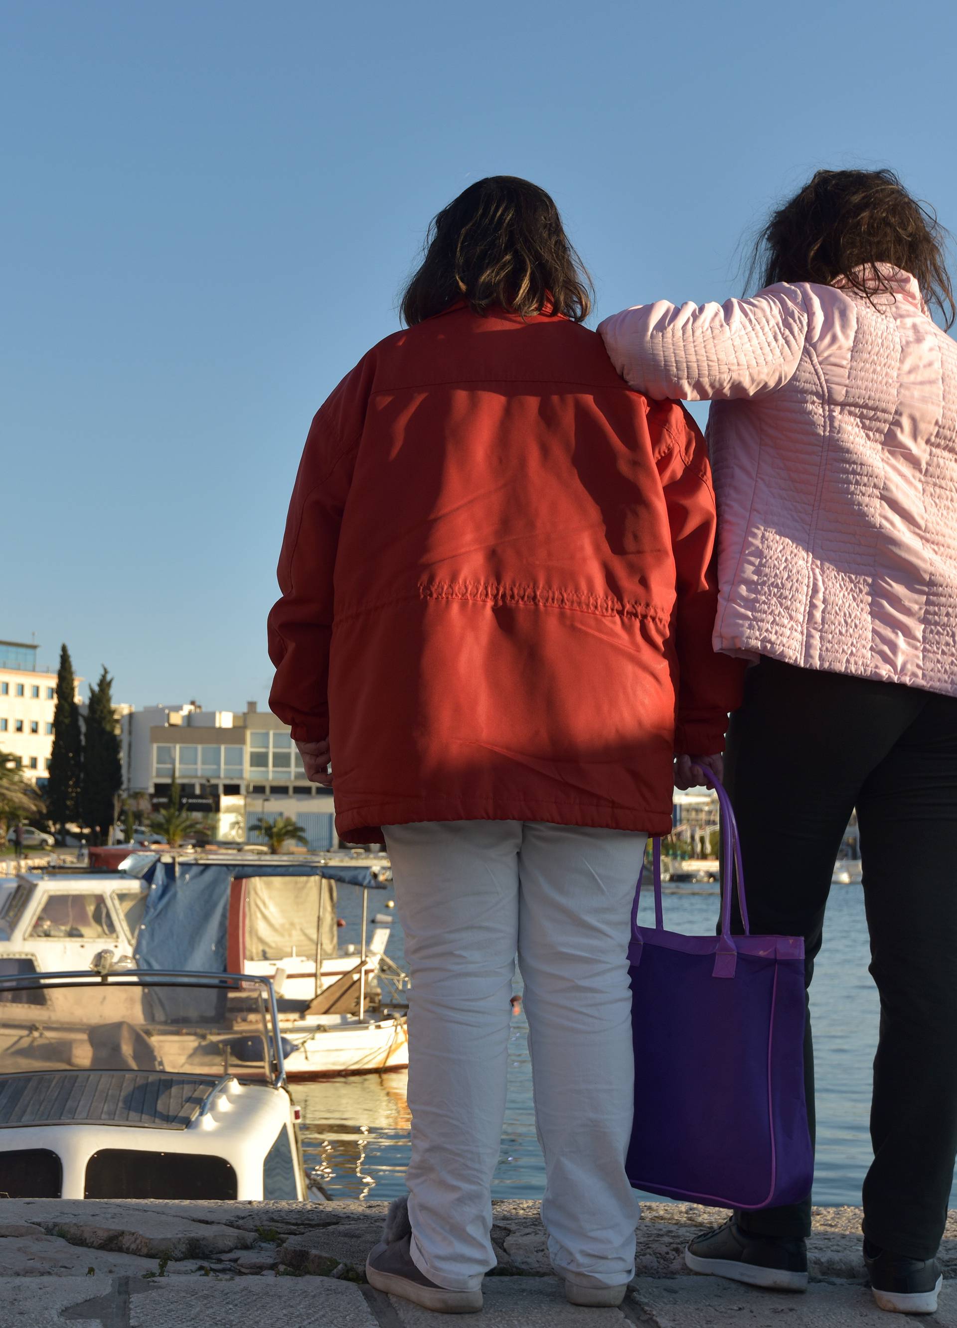
[[[292,817],[311,849],[335,847],[332,795],[310,784],[290,730],[250,701],[245,713],[152,705],[121,718],[124,791],[144,814],[169,798],[175,774],[182,806],[218,817],[219,839],[255,838],[261,817]]]

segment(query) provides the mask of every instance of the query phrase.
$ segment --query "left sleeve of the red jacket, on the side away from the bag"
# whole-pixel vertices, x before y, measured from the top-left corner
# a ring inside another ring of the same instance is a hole
[[[328,661],[339,527],[368,405],[370,356],[319,409],[306,438],[268,615],[270,709],[295,741],[328,737]]]

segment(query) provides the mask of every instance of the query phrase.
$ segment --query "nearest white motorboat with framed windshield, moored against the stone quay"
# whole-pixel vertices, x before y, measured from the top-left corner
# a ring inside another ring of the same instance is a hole
[[[0,977],[0,1191],[307,1198],[266,979]]]

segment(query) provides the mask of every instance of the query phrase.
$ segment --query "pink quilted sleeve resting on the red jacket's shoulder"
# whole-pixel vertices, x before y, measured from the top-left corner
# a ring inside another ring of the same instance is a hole
[[[770,286],[724,304],[638,304],[598,331],[625,381],[655,401],[731,401],[783,388],[804,349],[807,309],[796,286]]]

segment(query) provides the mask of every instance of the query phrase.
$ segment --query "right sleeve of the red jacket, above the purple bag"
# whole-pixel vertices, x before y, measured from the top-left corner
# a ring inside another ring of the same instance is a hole
[[[678,656],[675,753],[724,750],[728,713],[742,703],[746,664],[711,645],[718,611],[715,499],[707,448],[683,406],[670,402],[653,434],[675,560],[674,633]],[[651,410],[649,424],[659,410]]]

